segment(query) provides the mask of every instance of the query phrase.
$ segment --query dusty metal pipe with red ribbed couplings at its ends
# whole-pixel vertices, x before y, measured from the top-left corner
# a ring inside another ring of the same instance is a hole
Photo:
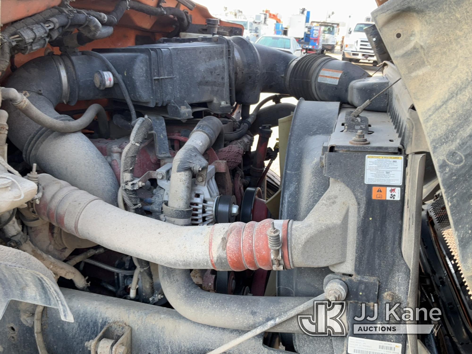
[[[272,269],[267,238],[272,219],[177,226],[121,210],[51,175],[39,175],[39,183],[43,194],[35,211],[41,219],[111,250],[179,269]],[[281,233],[284,265],[290,268],[290,222],[274,224]]]

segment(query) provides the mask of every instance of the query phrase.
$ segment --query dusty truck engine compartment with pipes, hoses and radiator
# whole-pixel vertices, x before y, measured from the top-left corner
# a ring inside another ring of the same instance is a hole
[[[60,53],[0,66],[1,348],[362,353],[375,338],[418,353],[430,337],[355,331],[361,313],[382,325],[398,304],[406,326],[426,322],[400,309],[436,306],[439,232],[424,236],[421,209],[442,197],[399,69],[295,57],[227,23],[205,33],[205,11],[178,3],[77,1],[2,29],[8,58]],[[130,10],[165,16],[169,38],[89,51]],[[320,329],[313,301],[344,303],[343,333]]]

